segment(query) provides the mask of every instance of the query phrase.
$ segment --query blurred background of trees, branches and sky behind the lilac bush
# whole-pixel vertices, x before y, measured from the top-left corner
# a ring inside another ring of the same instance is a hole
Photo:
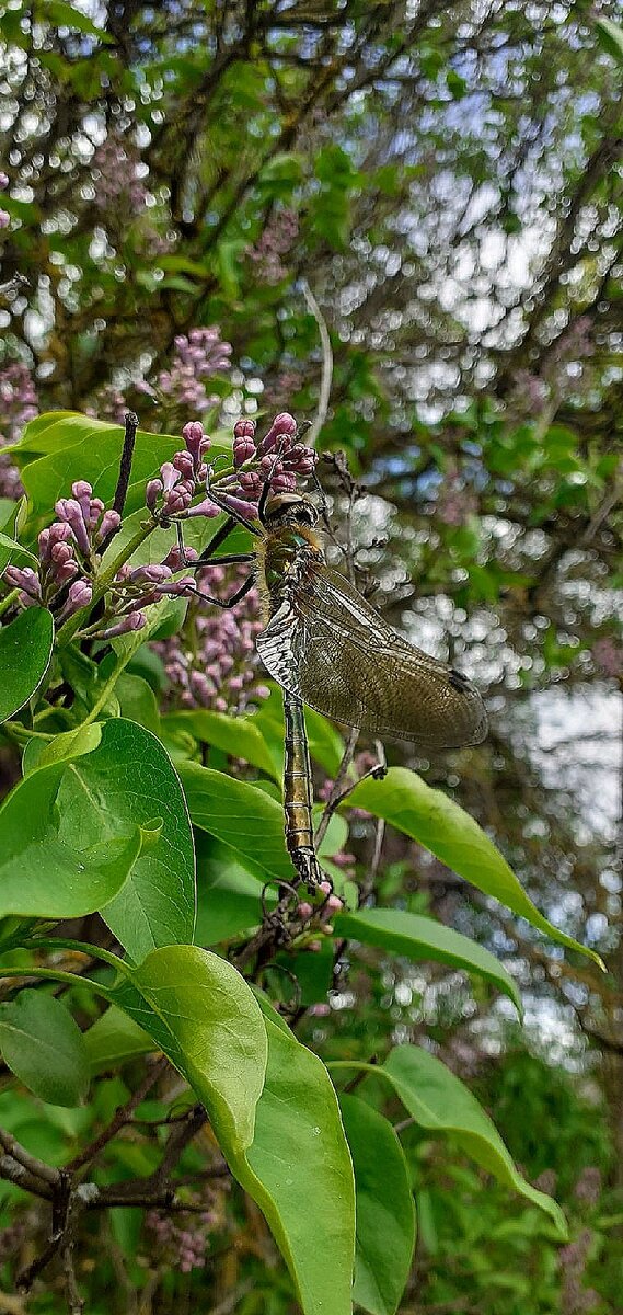
[[[313,418],[308,279],[334,351],[319,476],[359,583],[376,581],[392,621],[467,669],[490,709],[480,748],[402,760],[455,793],[543,911],[607,963],[599,976],[563,956],[405,838],[385,839],[377,902],[489,944],[523,989],[526,1027],[459,974],[369,949],[298,1035],[323,1057],[364,1059],[427,1038],[528,1178],[559,1193],[572,1237],[560,1251],[535,1210],[482,1191],[467,1161],[411,1130],[419,1243],[402,1310],[614,1315],[620,11],[9,0],[0,14],[4,444],[38,409],[118,419],[131,405],[143,429],[168,433],[284,408]],[[0,463],[7,525],[20,485],[11,454]],[[360,876],[375,844],[372,821],[354,815],[346,861]],[[88,1109],[45,1122],[7,1090],[3,1119],[37,1124],[38,1153],[59,1160],[122,1088],[105,1078]],[[158,1118],[151,1105],[142,1112]],[[149,1173],[150,1155],[129,1137],[110,1162]],[[0,1248],[20,1255],[32,1220],[16,1189],[3,1184],[1,1199]],[[193,1255],[192,1233],[164,1237],[158,1220],[150,1231],[118,1211],[96,1235],[91,1219],[88,1308],[191,1310],[208,1294],[214,1312],[292,1310],[250,1203],[223,1199],[205,1270],[170,1272],[171,1256]],[[223,1232],[235,1247],[221,1255]],[[57,1311],[62,1298],[51,1283],[13,1301],[1,1308]]]

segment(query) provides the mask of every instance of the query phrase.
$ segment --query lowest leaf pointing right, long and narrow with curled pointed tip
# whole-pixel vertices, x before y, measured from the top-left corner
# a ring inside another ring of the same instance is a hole
[[[335,1061],[333,1069],[359,1068],[390,1084],[415,1123],[430,1132],[443,1132],[498,1182],[513,1187],[553,1219],[560,1236],[566,1222],[560,1206],[522,1178],[499,1132],[471,1090],[428,1051],[397,1045],[384,1064]]]

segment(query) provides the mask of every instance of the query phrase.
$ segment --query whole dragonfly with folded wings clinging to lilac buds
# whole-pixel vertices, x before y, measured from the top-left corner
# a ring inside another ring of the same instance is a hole
[[[233,512],[214,489],[210,498],[227,518],[188,564],[196,571],[210,560],[248,563],[248,577],[230,598],[197,589],[219,608],[234,608],[255,584],[259,588],[264,629],[256,648],[284,697],[285,843],[296,884],[314,890],[326,878],[314,848],[304,705],[379,739],[409,740],[428,751],[478,744],[486,735],[485,706],[467,676],[404,639],[329,565],[317,530],[319,513],[309,497],[273,493],[267,481],[258,523]],[[237,522],[254,535],[255,551],[214,556]]]

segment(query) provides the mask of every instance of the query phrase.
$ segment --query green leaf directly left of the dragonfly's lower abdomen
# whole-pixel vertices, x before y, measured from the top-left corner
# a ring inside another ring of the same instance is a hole
[[[195,826],[225,840],[243,865],[250,860],[267,876],[292,881],[284,814],[276,800],[248,781],[234,781],[198,763],[180,764],[180,778]]]

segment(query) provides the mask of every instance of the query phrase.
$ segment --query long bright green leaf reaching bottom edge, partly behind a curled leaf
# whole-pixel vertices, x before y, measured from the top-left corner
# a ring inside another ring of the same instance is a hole
[[[355,1193],[335,1091],[321,1060],[263,1011],[268,1068],[254,1141],[244,1156],[223,1151],[268,1220],[304,1315],[351,1315]]]

